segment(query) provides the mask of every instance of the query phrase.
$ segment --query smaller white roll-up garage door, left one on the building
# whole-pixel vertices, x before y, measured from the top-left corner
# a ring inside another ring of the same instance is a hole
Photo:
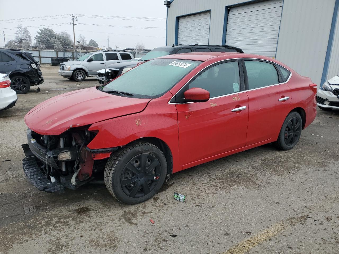
[[[178,44],[208,44],[211,12],[204,12],[179,18]]]

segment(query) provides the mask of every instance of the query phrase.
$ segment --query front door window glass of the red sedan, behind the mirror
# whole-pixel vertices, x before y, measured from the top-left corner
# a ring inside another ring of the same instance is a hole
[[[189,83],[189,88],[193,87],[209,91],[210,98],[239,92],[240,75],[238,61],[221,63],[208,68]]]

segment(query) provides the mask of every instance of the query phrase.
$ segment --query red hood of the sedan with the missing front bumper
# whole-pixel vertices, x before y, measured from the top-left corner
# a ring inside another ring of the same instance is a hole
[[[136,99],[98,91],[95,87],[60,94],[25,115],[26,125],[42,135],[141,112],[152,99]]]

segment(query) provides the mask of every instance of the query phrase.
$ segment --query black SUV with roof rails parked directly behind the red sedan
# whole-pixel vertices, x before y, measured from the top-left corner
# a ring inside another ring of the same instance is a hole
[[[180,44],[180,45],[172,45],[172,46],[163,46],[152,49],[146,55],[144,55],[139,62],[144,62],[151,60],[157,57],[163,57],[166,55],[173,54],[182,54],[182,53],[191,53],[191,52],[208,52],[208,51],[218,51],[218,52],[239,52],[243,53],[241,48],[231,47],[228,45],[199,45],[199,44]],[[99,70],[97,71],[97,80],[99,84],[103,85],[112,79],[118,77],[120,74],[124,72],[125,68],[131,69],[131,67],[137,66],[139,63],[135,62],[125,62],[125,63],[115,63],[107,66],[105,71]],[[134,65],[133,65],[134,63]]]

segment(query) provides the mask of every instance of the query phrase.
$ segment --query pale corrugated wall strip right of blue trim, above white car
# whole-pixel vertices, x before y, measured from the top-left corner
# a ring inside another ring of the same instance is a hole
[[[337,16],[337,22],[334,29],[330,64],[328,65],[326,80],[329,80],[336,75],[339,75],[339,14]]]

